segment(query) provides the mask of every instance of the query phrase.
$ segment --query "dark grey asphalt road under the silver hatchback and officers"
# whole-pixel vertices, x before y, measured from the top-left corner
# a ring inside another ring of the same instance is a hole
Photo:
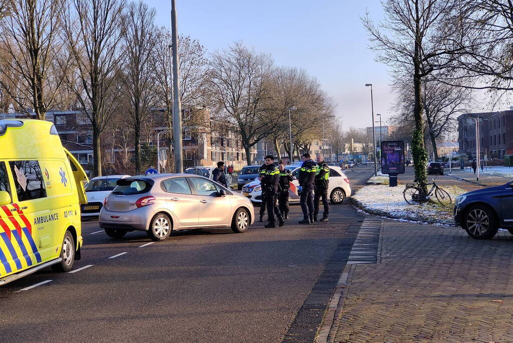
[[[354,189],[370,175],[347,172]],[[275,342],[302,321],[294,332],[309,339],[317,324],[300,309],[361,220],[347,201],[330,212],[329,222],[302,226],[294,205],[282,228],[257,222],[244,234],[181,231],[155,243],[143,232],[114,240],[84,222],[74,273],[47,269],[0,288],[1,340]]]

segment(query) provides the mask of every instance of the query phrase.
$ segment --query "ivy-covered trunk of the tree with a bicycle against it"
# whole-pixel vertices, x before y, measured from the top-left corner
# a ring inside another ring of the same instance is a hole
[[[420,16],[419,4],[415,2],[416,11],[416,40],[415,53],[413,55],[413,89],[415,92],[415,105],[413,106],[413,118],[415,119],[415,130],[411,138],[411,150],[413,154],[413,163],[415,163],[415,177],[420,187],[427,194],[427,151],[424,145],[424,118],[422,117],[422,88],[421,88],[421,70],[420,70]]]

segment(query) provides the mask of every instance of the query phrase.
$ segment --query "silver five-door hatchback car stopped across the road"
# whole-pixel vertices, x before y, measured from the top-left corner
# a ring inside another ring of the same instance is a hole
[[[129,177],[105,199],[100,227],[112,238],[128,231],[147,231],[161,241],[172,230],[230,226],[245,232],[254,222],[251,201],[205,177],[156,174]]]

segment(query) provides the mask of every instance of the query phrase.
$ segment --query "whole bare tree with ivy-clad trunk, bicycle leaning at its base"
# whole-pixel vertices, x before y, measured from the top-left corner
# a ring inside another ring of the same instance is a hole
[[[377,61],[387,64],[395,75],[412,75],[413,91],[412,153],[415,176],[426,189],[427,151],[424,145],[423,80],[437,70],[444,70],[455,59],[460,47],[443,44],[450,34],[450,23],[459,2],[452,0],[384,0],[385,20],[378,26],[363,18],[370,35],[371,49],[378,51]]]

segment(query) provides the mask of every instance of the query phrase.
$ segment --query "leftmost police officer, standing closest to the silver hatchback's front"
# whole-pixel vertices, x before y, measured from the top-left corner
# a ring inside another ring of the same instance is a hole
[[[269,223],[264,225],[265,227],[276,227],[274,215],[278,217],[279,226],[283,226],[285,224],[277,203],[280,170],[273,162],[274,157],[272,155],[265,157],[265,172],[263,176],[261,174],[259,177],[262,186],[262,200],[265,199],[267,215],[269,216]]]

